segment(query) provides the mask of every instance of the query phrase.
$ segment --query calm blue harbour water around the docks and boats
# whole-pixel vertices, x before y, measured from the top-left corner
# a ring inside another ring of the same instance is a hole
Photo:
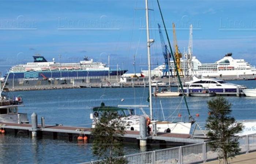
[[[256,87],[256,81],[230,81],[248,88]],[[13,92],[22,95],[24,104],[19,112],[33,112],[38,118],[45,117],[46,124],[68,126],[91,126],[91,107],[105,102],[106,105],[147,105],[147,88],[87,88],[66,90],[44,90]],[[233,104],[233,116],[238,120],[256,119],[256,98],[226,97]],[[124,101],[121,101],[124,99]],[[208,116],[206,102],[210,98],[187,97],[191,115],[198,122],[205,122]],[[161,103],[160,103],[161,102]],[[161,109],[162,104],[162,109]],[[167,120],[184,120],[188,116],[182,97],[153,97],[154,117]],[[145,109],[149,113],[148,109]],[[139,114],[140,110],[136,109]],[[164,113],[164,115],[162,114]],[[180,113],[182,118],[178,118]],[[199,113],[200,116],[195,115]],[[165,116],[165,117],[163,117]],[[40,119],[39,119],[40,120]],[[149,149],[155,149],[149,148]],[[149,150],[148,149],[148,150]],[[147,150],[147,151],[148,151]],[[126,144],[125,153],[137,153],[136,144]],[[90,144],[51,139],[31,139],[30,137],[0,135],[0,163],[81,163],[96,159]]]

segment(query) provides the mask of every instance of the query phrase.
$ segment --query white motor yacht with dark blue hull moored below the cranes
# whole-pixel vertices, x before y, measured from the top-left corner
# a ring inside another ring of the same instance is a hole
[[[221,79],[216,78],[202,78],[198,79],[193,77],[192,81],[185,82],[185,86],[188,87],[189,93],[202,92],[205,88],[208,89],[209,93],[232,93],[237,92],[237,89],[242,90],[246,87],[228,83]],[[187,92],[187,89],[184,89]]]

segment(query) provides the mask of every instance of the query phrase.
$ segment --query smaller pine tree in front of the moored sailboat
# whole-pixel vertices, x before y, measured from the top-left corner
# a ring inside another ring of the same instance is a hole
[[[93,140],[93,154],[103,161],[102,164],[125,164],[123,156],[124,126],[118,119],[117,112],[105,111],[102,113],[91,134]],[[117,158],[118,157],[118,158]]]

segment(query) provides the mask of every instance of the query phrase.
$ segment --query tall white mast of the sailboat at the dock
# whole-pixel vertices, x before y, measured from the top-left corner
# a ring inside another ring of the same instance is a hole
[[[153,110],[152,110],[152,93],[151,93],[151,59],[150,59],[150,43],[153,43],[154,40],[151,40],[149,37],[149,26],[148,26],[148,0],[146,0],[146,27],[147,27],[147,56],[148,56],[148,90],[149,90],[149,109],[150,109],[150,119],[153,119]]]

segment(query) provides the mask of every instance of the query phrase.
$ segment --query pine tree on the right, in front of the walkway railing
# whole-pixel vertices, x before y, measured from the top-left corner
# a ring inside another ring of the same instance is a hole
[[[206,120],[206,128],[209,129],[207,136],[215,141],[210,146],[218,151],[219,162],[228,163],[240,152],[239,137],[236,135],[244,127],[241,122],[236,122],[231,116],[231,103],[223,97],[217,97],[207,102],[210,116]]]

